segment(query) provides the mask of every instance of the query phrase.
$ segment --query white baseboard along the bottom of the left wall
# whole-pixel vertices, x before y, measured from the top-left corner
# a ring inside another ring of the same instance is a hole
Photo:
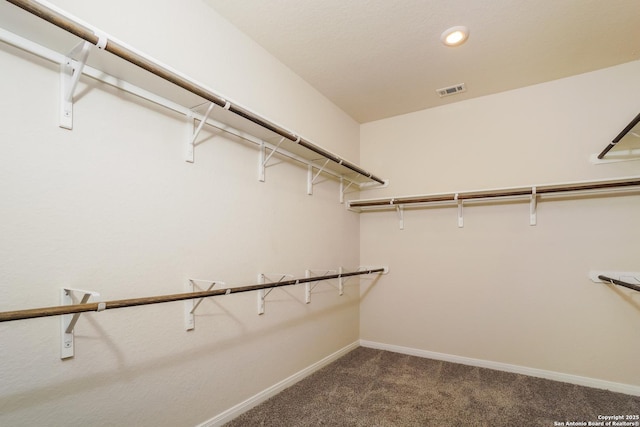
[[[223,425],[224,423],[228,423],[232,419],[234,419],[237,416],[245,413],[246,411],[248,411],[249,409],[253,408],[254,406],[257,406],[260,403],[264,402],[265,400],[269,399],[270,397],[275,396],[276,394],[280,393],[285,388],[294,385],[298,381],[304,379],[305,377],[308,377],[309,375],[313,374],[315,371],[319,370],[320,368],[325,367],[329,363],[338,360],[339,358],[341,358],[345,354],[349,353],[350,351],[355,350],[359,346],[360,346],[360,342],[359,341],[355,341],[355,342],[349,344],[348,346],[341,348],[340,350],[336,351],[335,353],[330,354],[329,356],[325,357],[324,359],[314,363],[313,365],[308,366],[308,367],[304,368],[303,370],[301,370],[299,372],[296,372],[295,374],[291,375],[288,378],[285,378],[284,380],[280,381],[279,383],[274,384],[271,387],[261,391],[260,393],[250,397],[249,399],[245,400],[244,402],[241,402],[241,403],[239,403],[239,404],[227,409],[226,411],[216,415],[215,417],[211,418],[208,421],[205,421],[204,423],[198,425],[197,427],[219,427],[219,426]]]

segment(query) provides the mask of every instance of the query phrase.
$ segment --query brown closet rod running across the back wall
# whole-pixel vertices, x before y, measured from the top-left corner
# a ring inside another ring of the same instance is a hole
[[[352,200],[350,208],[385,207],[408,205],[414,203],[454,202],[457,200],[489,199],[499,197],[531,196],[535,188],[536,195],[557,194],[563,192],[623,189],[640,186],[640,177],[622,178],[605,181],[576,182],[569,184],[550,184],[519,188],[505,188],[498,190],[468,191],[460,193],[434,194],[411,197],[395,197],[375,200]],[[457,197],[456,197],[457,196]]]

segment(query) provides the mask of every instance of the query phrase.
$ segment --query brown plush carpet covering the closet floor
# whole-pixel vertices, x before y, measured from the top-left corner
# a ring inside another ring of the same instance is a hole
[[[637,396],[359,347],[225,426],[631,427],[639,414]],[[631,419],[601,418],[616,415]]]

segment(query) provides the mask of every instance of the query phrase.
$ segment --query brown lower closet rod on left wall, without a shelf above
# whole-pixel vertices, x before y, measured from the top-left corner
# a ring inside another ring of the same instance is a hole
[[[34,319],[37,317],[59,316],[64,314],[85,313],[88,311],[103,311],[112,308],[135,307],[138,305],[161,304],[172,301],[214,297],[219,295],[236,294],[240,292],[257,291],[260,289],[278,288],[281,286],[297,285],[300,283],[319,282],[323,280],[340,279],[343,277],[359,276],[363,274],[384,273],[384,268],[353,271],[350,273],[329,274],[325,276],[305,277],[300,279],[283,280],[281,282],[261,283],[257,285],[240,286],[236,288],[216,289],[211,291],[186,292],[181,294],[158,295],[154,297],[130,298],[115,301],[94,302],[86,304],[63,305],[55,307],[33,308],[0,312],[0,322],[11,320]]]

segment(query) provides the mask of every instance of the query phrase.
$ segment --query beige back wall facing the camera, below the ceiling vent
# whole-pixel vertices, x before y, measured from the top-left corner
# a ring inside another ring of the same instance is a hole
[[[640,62],[361,127],[361,161],[391,185],[362,197],[638,175],[589,156],[638,113]],[[640,198],[361,214],[361,256],[391,273],[363,290],[361,338],[640,385],[640,295],[591,269],[640,271]]]

